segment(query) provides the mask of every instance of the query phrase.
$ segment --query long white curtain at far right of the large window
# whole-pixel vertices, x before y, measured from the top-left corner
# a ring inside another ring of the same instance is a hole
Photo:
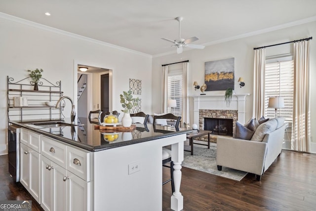
[[[294,42],[293,150],[310,152],[310,102],[310,41]]]

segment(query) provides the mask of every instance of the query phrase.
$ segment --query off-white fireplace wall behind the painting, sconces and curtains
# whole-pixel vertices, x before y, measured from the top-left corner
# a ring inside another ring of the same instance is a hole
[[[253,93],[253,58],[254,47],[260,47],[270,44],[289,42],[314,36],[311,41],[311,90],[316,89],[316,22],[306,23],[290,28],[284,28],[273,32],[250,36],[229,42],[222,42],[206,46],[202,50],[184,51],[182,54],[171,54],[153,58],[153,111],[161,110],[161,71],[162,64],[189,60],[189,95],[201,93],[194,90],[193,83],[197,81],[199,85],[204,81],[204,63],[226,58],[235,58],[235,92],[250,93],[246,97],[246,120],[252,117],[252,93]],[[278,45],[266,48],[266,56],[278,55],[293,52],[293,43]],[[176,52],[176,49],[174,48]],[[237,80],[243,77],[245,86],[239,87]],[[206,94],[210,92],[206,91]],[[212,91],[212,93],[222,93],[225,91]],[[312,139],[316,141],[316,94],[312,92],[311,100],[311,127]],[[193,124],[193,100],[190,99],[191,113],[190,119]]]

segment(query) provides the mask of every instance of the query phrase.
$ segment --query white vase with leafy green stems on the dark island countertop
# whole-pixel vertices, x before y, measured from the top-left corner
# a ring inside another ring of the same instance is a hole
[[[132,125],[132,118],[130,117],[130,110],[138,106],[139,98],[133,98],[132,91],[123,91],[123,94],[119,95],[120,97],[120,103],[122,104],[124,112],[124,116],[122,118],[122,125],[123,127],[130,127]]]

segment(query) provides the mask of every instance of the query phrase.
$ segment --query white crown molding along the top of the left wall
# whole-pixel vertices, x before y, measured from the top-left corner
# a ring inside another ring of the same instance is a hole
[[[16,23],[24,24],[24,25],[27,25],[27,26],[39,28],[39,29],[42,29],[42,30],[45,30],[45,31],[57,33],[57,34],[60,34],[60,35],[68,36],[68,37],[71,37],[71,38],[83,40],[83,41],[86,41],[86,42],[93,42],[95,44],[99,44],[99,45],[103,45],[103,46],[107,46],[107,47],[112,47],[112,48],[116,48],[118,50],[123,50],[123,51],[126,51],[126,52],[135,53],[135,54],[138,54],[138,55],[142,55],[142,56],[146,56],[146,57],[152,58],[152,55],[147,54],[147,53],[139,52],[139,51],[136,51],[136,50],[125,48],[125,47],[121,47],[121,46],[118,46],[118,45],[115,45],[115,44],[111,44],[111,43],[108,43],[108,42],[98,41],[98,40],[95,40],[95,39],[92,39],[92,38],[84,37],[84,36],[81,36],[81,35],[77,35],[77,34],[74,34],[74,33],[70,33],[70,32],[67,32],[67,31],[60,30],[60,29],[56,29],[56,28],[53,28],[53,27],[50,27],[50,26],[39,24],[39,23],[36,23],[36,22],[33,22],[33,21],[29,21],[29,20],[26,20],[26,19],[23,19],[23,18],[19,18],[19,17],[16,17],[16,16],[8,15],[8,14],[3,13],[3,12],[0,12],[0,18],[6,19],[6,20],[9,20],[9,21],[13,21],[13,22],[16,22]]]

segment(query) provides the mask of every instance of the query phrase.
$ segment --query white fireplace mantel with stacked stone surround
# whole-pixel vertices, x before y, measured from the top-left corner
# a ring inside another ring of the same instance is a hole
[[[245,102],[249,93],[234,93],[230,106],[225,102],[223,94],[193,95],[194,123],[199,129],[204,128],[204,118],[233,119],[233,128],[236,121],[245,123]]]

